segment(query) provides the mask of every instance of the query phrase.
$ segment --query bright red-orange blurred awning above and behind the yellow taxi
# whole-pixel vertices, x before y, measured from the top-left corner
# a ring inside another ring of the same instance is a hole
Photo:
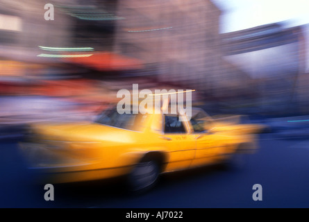
[[[116,53],[95,52],[85,54],[92,54],[92,56],[65,58],[65,61],[89,67],[91,69],[97,69],[99,71],[130,70],[141,69],[143,67],[140,60]]]

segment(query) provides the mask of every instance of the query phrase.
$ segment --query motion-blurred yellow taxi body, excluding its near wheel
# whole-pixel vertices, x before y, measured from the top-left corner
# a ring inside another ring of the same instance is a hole
[[[256,151],[256,133],[263,128],[211,119],[199,109],[183,121],[175,114],[114,112],[118,123],[112,126],[99,121],[106,114],[90,122],[33,125],[30,139],[20,144],[29,168],[42,171],[48,183],[126,176],[143,160],[155,161],[158,173],[179,171]],[[125,115],[134,119],[119,120]]]

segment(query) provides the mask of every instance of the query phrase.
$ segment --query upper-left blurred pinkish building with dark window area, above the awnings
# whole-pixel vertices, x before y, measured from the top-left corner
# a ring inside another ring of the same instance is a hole
[[[45,4],[54,7],[53,20],[45,20]],[[1,46],[26,47],[28,52],[37,46],[93,47],[112,49],[117,0],[82,1],[7,1],[1,0],[2,23],[12,28],[1,28]],[[31,55],[30,55],[31,56]]]

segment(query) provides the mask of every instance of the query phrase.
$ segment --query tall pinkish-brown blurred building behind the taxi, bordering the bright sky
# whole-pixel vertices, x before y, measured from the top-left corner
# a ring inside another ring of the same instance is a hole
[[[119,1],[115,51],[144,60],[161,83],[210,93],[222,71],[211,1]]]

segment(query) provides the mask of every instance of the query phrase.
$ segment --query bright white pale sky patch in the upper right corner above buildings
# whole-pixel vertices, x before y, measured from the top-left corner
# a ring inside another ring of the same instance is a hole
[[[221,33],[274,22],[309,23],[309,0],[212,0],[223,10]]]

